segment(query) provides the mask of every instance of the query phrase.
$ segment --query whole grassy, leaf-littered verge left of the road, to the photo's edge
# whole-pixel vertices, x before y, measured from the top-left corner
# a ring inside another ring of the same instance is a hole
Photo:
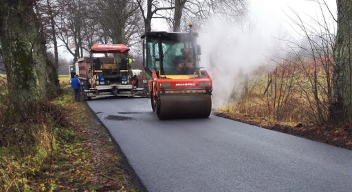
[[[61,78],[63,93],[51,103],[63,121],[17,125],[37,128],[32,143],[0,143],[0,191],[137,191],[104,127],[85,102],[74,101],[68,75]]]

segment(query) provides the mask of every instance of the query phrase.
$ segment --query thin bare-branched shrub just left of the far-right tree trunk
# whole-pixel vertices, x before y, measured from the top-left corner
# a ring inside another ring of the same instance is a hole
[[[335,33],[325,17],[322,22],[314,19],[317,26],[312,27],[297,12],[292,12],[295,15],[291,18],[292,23],[300,29],[297,32],[303,40],[301,43],[285,40],[290,51],[287,51],[287,58],[279,58],[285,61],[283,64],[276,63],[295,73],[290,90],[303,98],[297,106],[305,116],[303,119],[310,123],[325,123],[328,118],[327,106],[331,103]]]

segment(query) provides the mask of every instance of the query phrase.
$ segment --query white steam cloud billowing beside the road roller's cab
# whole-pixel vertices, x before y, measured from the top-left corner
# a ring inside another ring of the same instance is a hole
[[[280,26],[261,27],[250,17],[246,20],[244,25],[243,21],[228,25],[222,19],[211,19],[199,33],[201,67],[212,77],[214,107],[227,104],[234,86],[243,81],[239,78],[265,64],[265,56],[272,56],[279,47],[274,36]]]

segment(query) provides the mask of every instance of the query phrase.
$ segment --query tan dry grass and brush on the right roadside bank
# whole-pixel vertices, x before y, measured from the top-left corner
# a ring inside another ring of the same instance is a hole
[[[309,67],[307,64],[307,68]],[[254,71],[252,78],[248,78],[247,82],[243,80],[243,86],[234,89],[230,104],[225,106],[225,110],[292,124],[324,123],[328,118],[331,98],[327,95],[329,91],[325,72],[323,69],[318,71],[319,86],[314,91],[311,75],[297,68],[280,66],[274,70],[261,68]]]

